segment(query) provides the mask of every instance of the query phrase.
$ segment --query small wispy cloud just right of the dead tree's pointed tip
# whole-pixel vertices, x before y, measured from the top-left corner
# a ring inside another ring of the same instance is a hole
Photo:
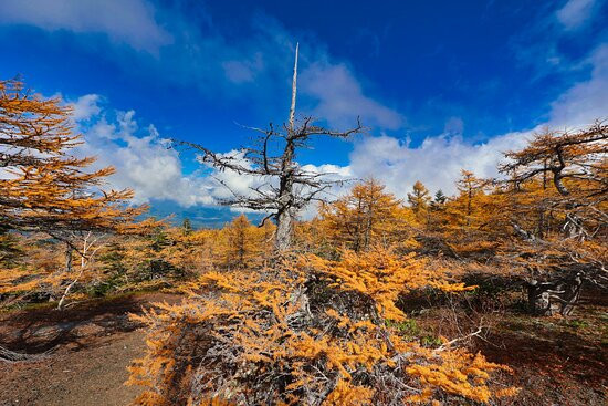
[[[311,112],[335,126],[352,126],[358,116],[365,125],[396,129],[403,117],[396,111],[366,96],[346,65],[314,62],[302,71],[302,93],[317,100]]]

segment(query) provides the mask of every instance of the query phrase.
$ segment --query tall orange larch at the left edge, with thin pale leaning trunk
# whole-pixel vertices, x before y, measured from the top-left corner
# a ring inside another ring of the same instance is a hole
[[[132,190],[101,188],[114,168],[87,170],[95,159],[72,155],[82,136],[74,134],[71,114],[57,97],[43,98],[17,80],[0,81],[0,229],[42,231],[66,242],[66,273],[72,251],[80,253],[61,304],[96,251],[93,235],[134,231],[145,209],[127,206]],[[84,240],[76,243],[75,233]]]

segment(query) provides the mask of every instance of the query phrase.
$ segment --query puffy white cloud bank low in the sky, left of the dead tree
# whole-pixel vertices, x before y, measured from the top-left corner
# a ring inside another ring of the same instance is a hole
[[[154,125],[140,128],[135,112],[113,111],[103,105],[95,94],[80,97],[72,103],[73,118],[84,143],[77,147],[80,156],[95,156],[94,168],[113,166],[116,174],[108,179],[114,189],[130,188],[135,202],[170,200],[182,207],[214,206],[234,195],[252,196],[253,188],[268,186],[265,177],[242,176],[231,170],[216,170],[206,164],[188,173],[184,157],[170,148],[170,142],[161,137]],[[244,167],[251,167],[241,150],[230,150],[231,156]],[[304,170],[327,174],[327,178],[343,179],[350,176],[348,167],[336,165],[305,165]],[[312,211],[310,216],[312,216]]]

